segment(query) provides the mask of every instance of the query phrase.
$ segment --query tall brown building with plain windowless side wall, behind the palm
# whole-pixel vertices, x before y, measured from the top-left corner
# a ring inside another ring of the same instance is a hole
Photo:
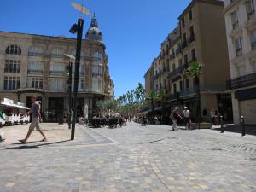
[[[168,92],[166,106],[183,108],[186,105],[195,114],[195,82],[194,79],[183,79],[183,70],[191,61],[198,61],[204,65],[200,77],[201,116],[207,111],[207,120],[210,120],[210,111],[215,108],[225,120],[232,120],[231,97],[225,93],[230,71],[223,12],[222,1],[191,1],[178,17],[178,27],[161,45],[158,60],[163,62],[160,66],[164,69],[167,63],[169,68],[166,69],[167,76],[159,75],[161,77],[157,79],[167,77],[167,86],[161,86]],[[154,80],[154,84],[159,81]],[[165,82],[161,80],[161,84]]]

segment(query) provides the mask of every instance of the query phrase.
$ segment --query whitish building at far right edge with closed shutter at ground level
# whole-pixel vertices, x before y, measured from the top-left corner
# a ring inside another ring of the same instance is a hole
[[[234,121],[256,125],[256,14],[255,0],[224,0],[229,48]]]

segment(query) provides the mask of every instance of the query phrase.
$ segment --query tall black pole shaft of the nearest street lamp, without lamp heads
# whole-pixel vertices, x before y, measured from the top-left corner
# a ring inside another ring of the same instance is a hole
[[[73,118],[72,118],[72,129],[71,129],[71,140],[74,140],[75,126],[77,121],[77,97],[79,88],[79,68],[80,68],[80,55],[82,47],[82,36],[83,36],[84,20],[78,20],[78,33],[77,33],[77,52],[75,61],[75,73],[74,73],[74,86],[73,86]]]

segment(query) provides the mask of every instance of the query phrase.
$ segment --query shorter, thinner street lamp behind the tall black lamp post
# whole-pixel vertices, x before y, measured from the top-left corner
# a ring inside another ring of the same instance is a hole
[[[68,129],[71,129],[71,117],[72,117],[72,67],[73,61],[75,61],[75,57],[73,55],[64,54],[67,58],[69,58],[68,63]]]

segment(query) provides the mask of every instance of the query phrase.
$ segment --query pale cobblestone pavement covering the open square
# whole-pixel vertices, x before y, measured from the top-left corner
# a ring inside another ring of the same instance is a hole
[[[67,141],[67,127],[45,132],[48,143],[0,143],[1,192],[256,191],[254,136],[135,123],[78,125],[75,141]]]

